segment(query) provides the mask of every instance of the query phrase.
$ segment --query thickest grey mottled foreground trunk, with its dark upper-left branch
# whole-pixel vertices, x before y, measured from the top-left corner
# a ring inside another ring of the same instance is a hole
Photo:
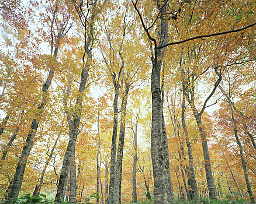
[[[133,2],[133,1],[132,1]],[[167,0],[157,0],[159,10],[160,25],[157,32],[157,40],[151,37],[149,29],[145,26],[142,18],[141,23],[147,33],[148,39],[154,43],[154,56],[151,56],[153,68],[151,72],[151,98],[152,98],[152,128],[151,128],[151,157],[154,175],[154,201],[155,204],[172,203],[172,185],[171,174],[169,171],[169,150],[168,140],[165,130],[164,117],[162,112],[162,94],[160,87],[160,75],[162,61],[164,58],[165,48],[159,49],[161,45],[167,43],[168,40],[168,23],[167,23]],[[134,8],[140,15],[137,8],[137,1],[133,2]],[[141,16],[141,15],[140,15]]]

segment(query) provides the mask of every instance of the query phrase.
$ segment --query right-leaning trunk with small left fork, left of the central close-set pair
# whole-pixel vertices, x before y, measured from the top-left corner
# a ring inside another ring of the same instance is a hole
[[[82,6],[82,5],[81,5]],[[61,173],[60,173],[60,179],[58,182],[58,189],[57,189],[57,194],[55,196],[54,202],[60,202],[61,201],[61,196],[63,196],[63,192],[65,191],[66,185],[67,185],[67,175],[68,175],[68,170],[70,168],[70,163],[71,163],[71,158],[73,155],[75,155],[75,143],[77,141],[77,136],[78,136],[78,130],[79,130],[79,124],[81,120],[81,114],[82,114],[82,95],[85,91],[85,85],[87,83],[87,78],[88,78],[88,72],[89,68],[91,66],[92,62],[92,43],[94,41],[94,28],[92,25],[94,24],[94,19],[95,19],[95,8],[96,8],[96,1],[92,5],[92,13],[90,17],[90,22],[88,27],[87,27],[87,19],[85,19],[86,23],[84,25],[84,38],[85,38],[85,43],[84,43],[84,55],[82,57],[82,73],[81,73],[81,80],[78,88],[78,95],[77,95],[77,100],[75,102],[75,111],[71,115],[67,109],[67,95],[64,96],[64,107],[65,107],[65,114],[67,116],[67,121],[68,121],[68,127],[70,129],[70,140],[68,141],[68,146],[67,150],[64,155],[64,160],[63,160],[63,166],[61,167]],[[75,5],[75,9],[77,9],[77,12],[84,12],[83,10],[78,10],[81,9],[81,7],[77,7]],[[82,20],[81,20],[82,21]],[[83,22],[83,21],[82,21]],[[88,30],[87,30],[88,29]],[[88,34],[87,34],[88,31]],[[88,37],[87,37],[88,36]],[[85,62],[85,54],[87,54],[87,59]],[[70,88],[68,88],[68,93],[70,92]]]

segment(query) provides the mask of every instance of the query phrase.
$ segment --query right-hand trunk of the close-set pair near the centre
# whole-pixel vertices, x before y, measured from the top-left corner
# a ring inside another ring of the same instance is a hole
[[[114,203],[121,203],[121,184],[122,184],[122,167],[123,167],[123,146],[124,146],[124,131],[126,123],[126,105],[130,86],[125,83],[125,90],[122,96],[121,104],[121,122],[119,131],[119,141],[116,157],[116,172],[115,172],[115,187],[114,187]]]

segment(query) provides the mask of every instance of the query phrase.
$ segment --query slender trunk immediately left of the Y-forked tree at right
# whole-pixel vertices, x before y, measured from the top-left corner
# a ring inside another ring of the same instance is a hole
[[[195,171],[193,166],[193,154],[191,143],[189,142],[188,129],[186,128],[185,122],[185,86],[182,84],[182,107],[181,107],[181,125],[186,138],[186,146],[188,147],[188,159],[189,159],[189,175],[192,188],[192,199],[199,198],[198,185],[196,184]]]

